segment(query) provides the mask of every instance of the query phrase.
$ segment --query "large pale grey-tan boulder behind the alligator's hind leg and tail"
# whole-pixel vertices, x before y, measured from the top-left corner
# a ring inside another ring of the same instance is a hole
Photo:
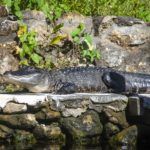
[[[106,16],[99,24],[97,38],[94,41],[102,56],[97,65],[150,72],[150,27],[143,21],[131,17]]]

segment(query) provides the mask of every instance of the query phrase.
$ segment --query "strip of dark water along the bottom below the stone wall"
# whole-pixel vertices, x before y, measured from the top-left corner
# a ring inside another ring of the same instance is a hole
[[[128,145],[120,145],[116,148],[110,148],[108,144],[97,146],[79,146],[79,145],[57,145],[48,143],[37,144],[0,144],[0,150],[150,150],[150,141],[138,143],[137,147],[133,148]]]

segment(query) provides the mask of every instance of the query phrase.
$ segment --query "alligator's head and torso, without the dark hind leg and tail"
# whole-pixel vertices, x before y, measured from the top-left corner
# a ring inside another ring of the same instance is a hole
[[[100,67],[70,67],[56,70],[43,70],[23,67],[17,71],[4,73],[7,83],[21,85],[30,92],[51,92],[68,94],[75,92],[106,92],[102,81],[103,73],[109,70]]]

